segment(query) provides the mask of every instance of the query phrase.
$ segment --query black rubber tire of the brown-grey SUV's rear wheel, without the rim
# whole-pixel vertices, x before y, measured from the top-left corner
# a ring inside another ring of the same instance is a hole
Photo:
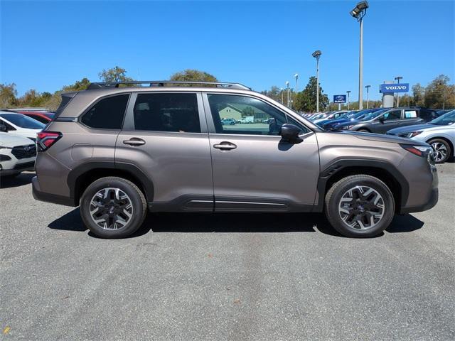
[[[118,188],[127,195],[129,201],[131,202],[132,216],[124,226],[119,227],[118,229],[105,229],[100,227],[95,223],[94,219],[92,219],[92,215],[90,214],[90,202],[92,202],[92,198],[104,188]],[[82,217],[82,221],[85,226],[97,237],[109,239],[128,237],[141,227],[146,214],[147,202],[144,197],[144,193],[139,190],[137,185],[134,185],[134,183],[124,178],[107,177],[95,180],[87,187],[80,200],[80,215]]]

